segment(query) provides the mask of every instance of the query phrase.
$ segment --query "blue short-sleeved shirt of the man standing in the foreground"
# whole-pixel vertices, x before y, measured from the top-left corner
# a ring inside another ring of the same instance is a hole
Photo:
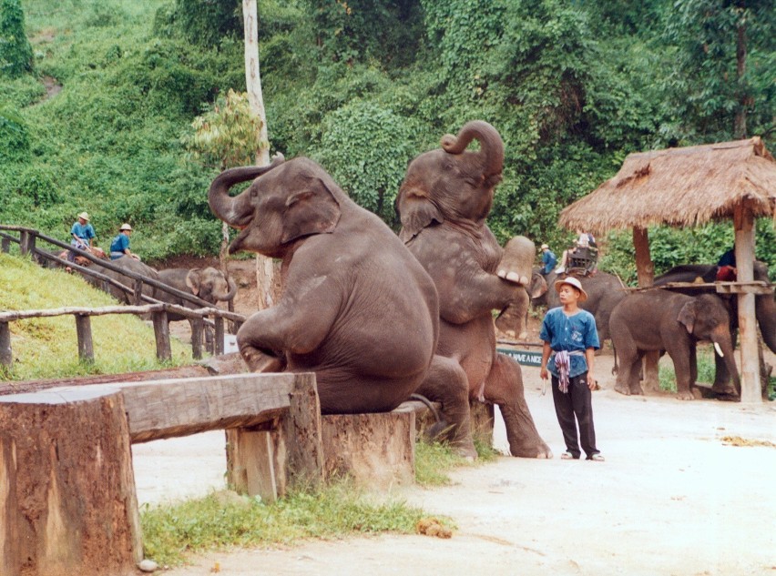
[[[553,376],[558,376],[555,368],[555,352],[575,350],[584,352],[588,348],[601,348],[596,331],[596,318],[587,310],[580,309],[573,316],[563,313],[563,307],[550,309],[542,322],[539,338],[550,343],[553,353],[547,362],[547,369]],[[573,378],[587,372],[587,359],[584,356],[572,355],[569,359],[568,377]]]

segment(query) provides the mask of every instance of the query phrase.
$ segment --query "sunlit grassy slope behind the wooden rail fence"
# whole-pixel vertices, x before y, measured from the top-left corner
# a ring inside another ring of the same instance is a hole
[[[31,260],[0,254],[0,310],[116,306],[105,292],[76,274],[38,267]],[[95,361],[78,359],[73,316],[29,318],[10,323],[14,367],[0,380],[50,379],[118,374],[191,363],[191,349],[171,339],[172,360],[156,357],[153,328],[133,315],[91,319]]]

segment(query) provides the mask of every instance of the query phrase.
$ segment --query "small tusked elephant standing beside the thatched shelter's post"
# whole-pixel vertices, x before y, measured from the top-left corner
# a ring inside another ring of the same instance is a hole
[[[640,359],[648,351],[667,351],[674,362],[677,398],[693,399],[698,377],[696,343],[711,341],[725,359],[740,393],[740,379],[733,358],[730,316],[720,298],[711,294],[697,297],[664,289],[629,294],[612,310],[609,318],[612,344],[620,360],[615,390],[621,394],[642,394],[638,382]]]

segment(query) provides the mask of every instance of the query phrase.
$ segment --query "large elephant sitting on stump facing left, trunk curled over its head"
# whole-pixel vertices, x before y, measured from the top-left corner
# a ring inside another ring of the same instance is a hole
[[[390,411],[412,393],[440,401],[454,449],[476,458],[465,373],[434,353],[434,282],[380,218],[306,157],[222,172],[209,206],[240,230],[230,253],[282,261],[280,300],[237,333],[250,370],[315,372],[324,414]]]

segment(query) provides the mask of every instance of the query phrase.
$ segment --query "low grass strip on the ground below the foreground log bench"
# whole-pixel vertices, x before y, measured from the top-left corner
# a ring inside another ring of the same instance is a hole
[[[210,494],[140,512],[147,558],[161,566],[185,561],[188,553],[293,544],[349,534],[412,534],[424,511],[403,500],[377,501],[347,481],[313,492],[297,492],[273,504],[229,493]],[[442,520],[450,524],[449,520]]]

